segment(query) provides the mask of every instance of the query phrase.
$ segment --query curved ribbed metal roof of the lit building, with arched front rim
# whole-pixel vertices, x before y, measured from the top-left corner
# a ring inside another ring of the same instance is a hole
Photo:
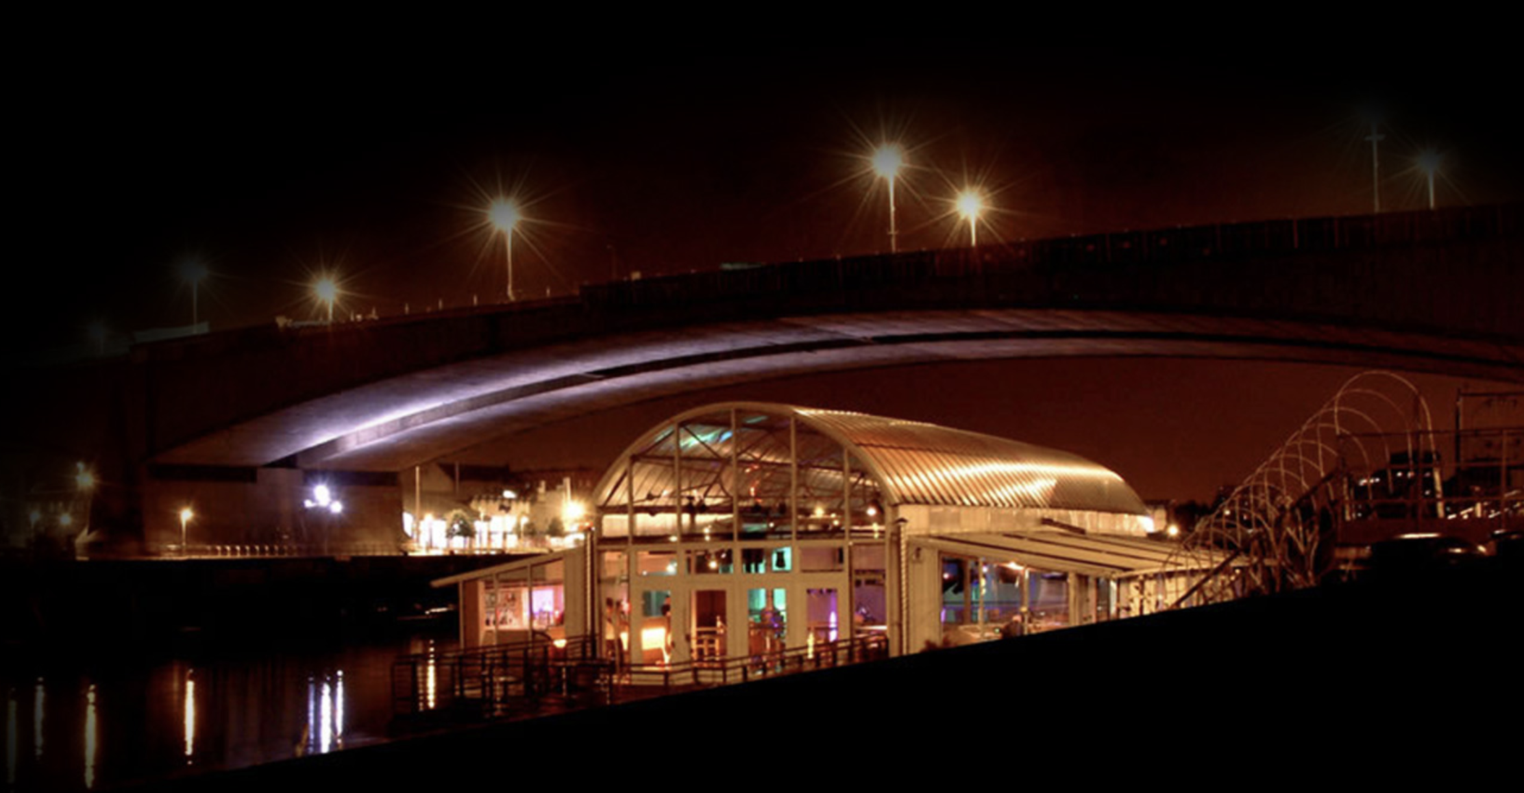
[[[792,417],[834,438],[869,469],[892,505],[1148,513],[1122,476],[1070,452],[925,422],[762,402],[706,405],[661,422],[620,455],[597,493],[625,460],[674,425],[727,409]]]

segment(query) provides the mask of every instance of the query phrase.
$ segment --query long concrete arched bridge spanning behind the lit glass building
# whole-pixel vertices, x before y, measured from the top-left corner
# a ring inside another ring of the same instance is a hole
[[[395,475],[643,399],[936,361],[1250,358],[1524,382],[1519,295],[1524,205],[1468,207],[619,282],[148,344],[72,376],[113,394],[98,406],[108,419],[79,423],[122,452],[125,479],[253,484],[270,470]]]

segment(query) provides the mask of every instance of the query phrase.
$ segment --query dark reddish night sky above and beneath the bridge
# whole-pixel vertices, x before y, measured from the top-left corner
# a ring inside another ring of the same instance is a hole
[[[1442,205],[1516,201],[1524,184],[1507,102],[1518,70],[1501,53],[902,40],[517,49],[491,70],[421,68],[407,53],[198,55],[194,67],[102,55],[88,82],[18,88],[12,230],[24,257],[12,272],[26,286],[12,292],[23,306],[6,315],[8,347],[81,344],[91,323],[189,324],[186,260],[210,271],[200,317],[213,329],[315,318],[306,285],[319,271],[341,277],[341,312],[495,301],[503,247],[482,219],[500,192],[527,218],[514,242],[521,297],[636,271],[881,251],[887,196],[866,157],[885,140],[908,149],[901,250],[966,244],[951,213],[966,184],[994,205],[981,240],[1370,212],[1361,113],[1373,107],[1387,135],[1382,209],[1423,205],[1414,158],[1426,146],[1445,157]],[[914,367],[664,400],[477,457],[604,466],[663,412],[757,397],[1061,446],[1145,498],[1209,498],[1352,373],[1143,359]],[[1455,384],[1423,385],[1443,414]],[[617,440],[565,452],[584,437]]]

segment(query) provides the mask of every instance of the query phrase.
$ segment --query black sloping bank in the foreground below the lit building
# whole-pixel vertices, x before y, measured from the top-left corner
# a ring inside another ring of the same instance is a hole
[[[1140,773],[1372,781],[1414,770],[1465,784],[1512,767],[1518,749],[1518,574],[1489,563],[1164,612],[183,778],[166,790],[399,788],[533,770],[655,784],[803,769],[856,785],[930,767],[991,784]]]

